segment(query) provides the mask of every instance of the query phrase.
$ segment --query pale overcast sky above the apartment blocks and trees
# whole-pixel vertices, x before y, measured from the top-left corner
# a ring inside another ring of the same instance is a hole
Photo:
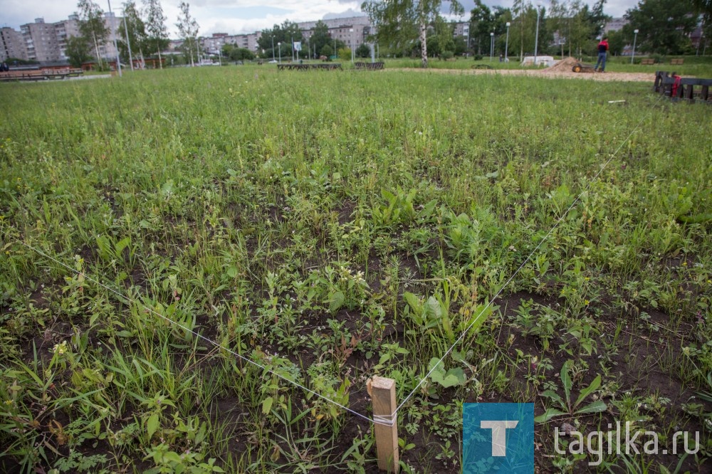
[[[592,4],[593,0],[583,0]],[[137,0],[142,5],[142,0]],[[178,18],[180,0],[162,0],[164,14],[168,18],[169,35],[177,37],[175,23]],[[474,1],[461,2],[467,12],[473,8]],[[512,0],[484,0],[495,6],[511,6]],[[543,0],[548,5],[548,0]],[[98,4],[108,11],[108,0],[99,0]],[[199,34],[211,33],[252,33],[271,28],[276,23],[290,21],[315,21],[324,18],[353,16],[360,12],[360,1],[349,0],[192,0],[190,11],[200,25]],[[635,0],[608,0],[605,12],[611,16],[623,16],[627,9],[637,4]],[[36,18],[44,18],[47,23],[66,19],[76,10],[76,0],[0,0],[0,26],[19,29],[24,23],[31,23]],[[112,9],[120,14],[122,3],[112,1]]]

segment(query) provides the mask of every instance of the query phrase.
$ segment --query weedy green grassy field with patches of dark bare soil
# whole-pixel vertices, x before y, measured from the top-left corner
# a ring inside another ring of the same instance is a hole
[[[712,110],[650,88],[1,84],[0,470],[375,472],[371,424],[315,395],[370,417],[372,375],[415,390],[407,473],[461,470],[473,401],[535,404],[541,472],[708,470]],[[699,449],[554,450],[616,421]]]

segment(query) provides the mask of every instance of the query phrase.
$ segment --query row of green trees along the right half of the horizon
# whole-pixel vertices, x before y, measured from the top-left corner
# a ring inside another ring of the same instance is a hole
[[[464,16],[457,1],[448,2],[450,14]],[[429,57],[449,58],[465,52],[475,56],[539,54],[583,56],[595,53],[605,23],[606,0],[589,6],[582,0],[551,0],[548,8],[528,0],[514,0],[511,8],[490,8],[475,0],[467,22],[468,34],[455,37],[454,22],[444,19],[442,0],[367,0],[361,9],[376,28],[377,41],[390,56],[417,56],[427,66]],[[698,26],[712,36],[712,0],[641,0],[629,9],[627,24],[612,32],[612,53],[622,53],[638,30],[637,51],[659,54],[692,53],[690,33]],[[536,38],[538,23],[538,38]],[[555,34],[556,33],[556,34]],[[505,49],[507,51],[505,51]]]

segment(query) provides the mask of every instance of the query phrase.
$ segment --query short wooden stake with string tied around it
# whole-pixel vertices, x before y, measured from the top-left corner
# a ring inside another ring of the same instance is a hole
[[[398,426],[396,409],[396,381],[384,377],[372,376],[367,382],[368,394],[373,404],[376,435],[376,455],[378,468],[389,473],[398,474],[400,468],[398,459]]]

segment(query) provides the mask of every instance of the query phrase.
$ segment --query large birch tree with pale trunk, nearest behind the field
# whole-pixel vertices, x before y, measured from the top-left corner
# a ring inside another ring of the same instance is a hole
[[[428,27],[440,14],[442,0],[366,0],[361,5],[377,28],[379,43],[405,46],[408,41],[418,38],[421,48],[422,67],[428,67]],[[464,14],[462,5],[452,0],[450,13]]]

